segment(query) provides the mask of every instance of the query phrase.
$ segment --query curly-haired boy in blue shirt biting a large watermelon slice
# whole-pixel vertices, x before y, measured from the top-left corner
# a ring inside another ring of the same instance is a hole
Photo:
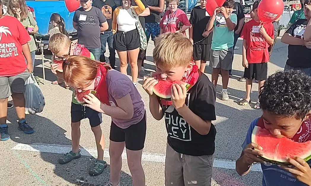
[[[284,162],[274,162],[283,164],[282,166],[270,164],[266,162],[267,159],[263,160],[261,157],[267,157],[270,149],[274,153],[273,148],[275,147],[271,146],[271,148],[265,149],[252,143],[257,138],[253,129],[260,126],[264,129],[262,131],[268,131],[271,141],[276,140],[275,138],[280,138],[280,141],[284,140],[282,138],[288,138],[291,139],[290,143],[295,144],[297,142],[296,147],[276,147],[276,149],[279,148],[284,151],[278,150],[278,153],[274,154],[276,157],[282,156],[282,153],[287,154],[288,151],[294,153],[299,149],[298,146],[301,143],[310,147],[311,77],[301,71],[294,70],[275,73],[264,83],[259,100],[262,116],[256,118],[249,126],[245,141],[242,144],[243,151],[236,161],[236,171],[239,175],[244,176],[248,174],[254,162],[260,162],[263,172],[263,186],[311,185],[311,160],[308,161],[309,158],[306,158],[306,162],[296,156],[284,157],[285,163],[289,166],[285,166]],[[256,141],[260,142],[260,140]],[[269,141],[265,143],[267,144]],[[310,153],[310,148],[300,148],[300,150]],[[301,154],[301,152],[299,153]],[[308,154],[306,155],[308,156]]]

